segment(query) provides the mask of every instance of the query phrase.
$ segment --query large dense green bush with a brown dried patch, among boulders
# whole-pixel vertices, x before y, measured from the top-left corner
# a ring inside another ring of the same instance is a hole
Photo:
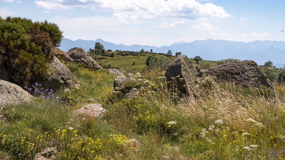
[[[0,60],[9,80],[20,86],[42,81],[48,76],[50,50],[60,46],[62,31],[55,23],[7,17],[0,22]]]

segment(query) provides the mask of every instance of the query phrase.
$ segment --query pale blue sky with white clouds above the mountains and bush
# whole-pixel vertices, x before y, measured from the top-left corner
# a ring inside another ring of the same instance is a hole
[[[160,47],[285,40],[284,0],[0,0],[0,16],[48,20],[65,38]]]

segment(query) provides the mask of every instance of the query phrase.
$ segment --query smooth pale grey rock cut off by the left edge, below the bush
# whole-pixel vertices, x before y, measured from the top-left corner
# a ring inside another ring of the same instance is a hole
[[[29,102],[34,98],[20,86],[0,80],[0,109],[6,104]]]

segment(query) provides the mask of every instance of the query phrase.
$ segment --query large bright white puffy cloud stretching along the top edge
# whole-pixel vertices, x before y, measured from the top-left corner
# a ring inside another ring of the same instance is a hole
[[[203,17],[227,18],[230,15],[212,3],[201,4],[195,0],[43,0],[35,1],[45,9],[71,9],[90,7],[93,10],[106,10],[120,20],[137,20],[155,17],[198,19]]]

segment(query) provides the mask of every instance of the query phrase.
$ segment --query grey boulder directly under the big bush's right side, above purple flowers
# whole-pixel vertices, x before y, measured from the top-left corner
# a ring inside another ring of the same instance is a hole
[[[61,63],[58,58],[54,56],[50,65],[53,68],[54,73],[43,82],[46,87],[52,89],[60,88],[60,86],[63,85],[60,81],[63,81],[66,86],[74,85],[76,83],[71,71]]]

